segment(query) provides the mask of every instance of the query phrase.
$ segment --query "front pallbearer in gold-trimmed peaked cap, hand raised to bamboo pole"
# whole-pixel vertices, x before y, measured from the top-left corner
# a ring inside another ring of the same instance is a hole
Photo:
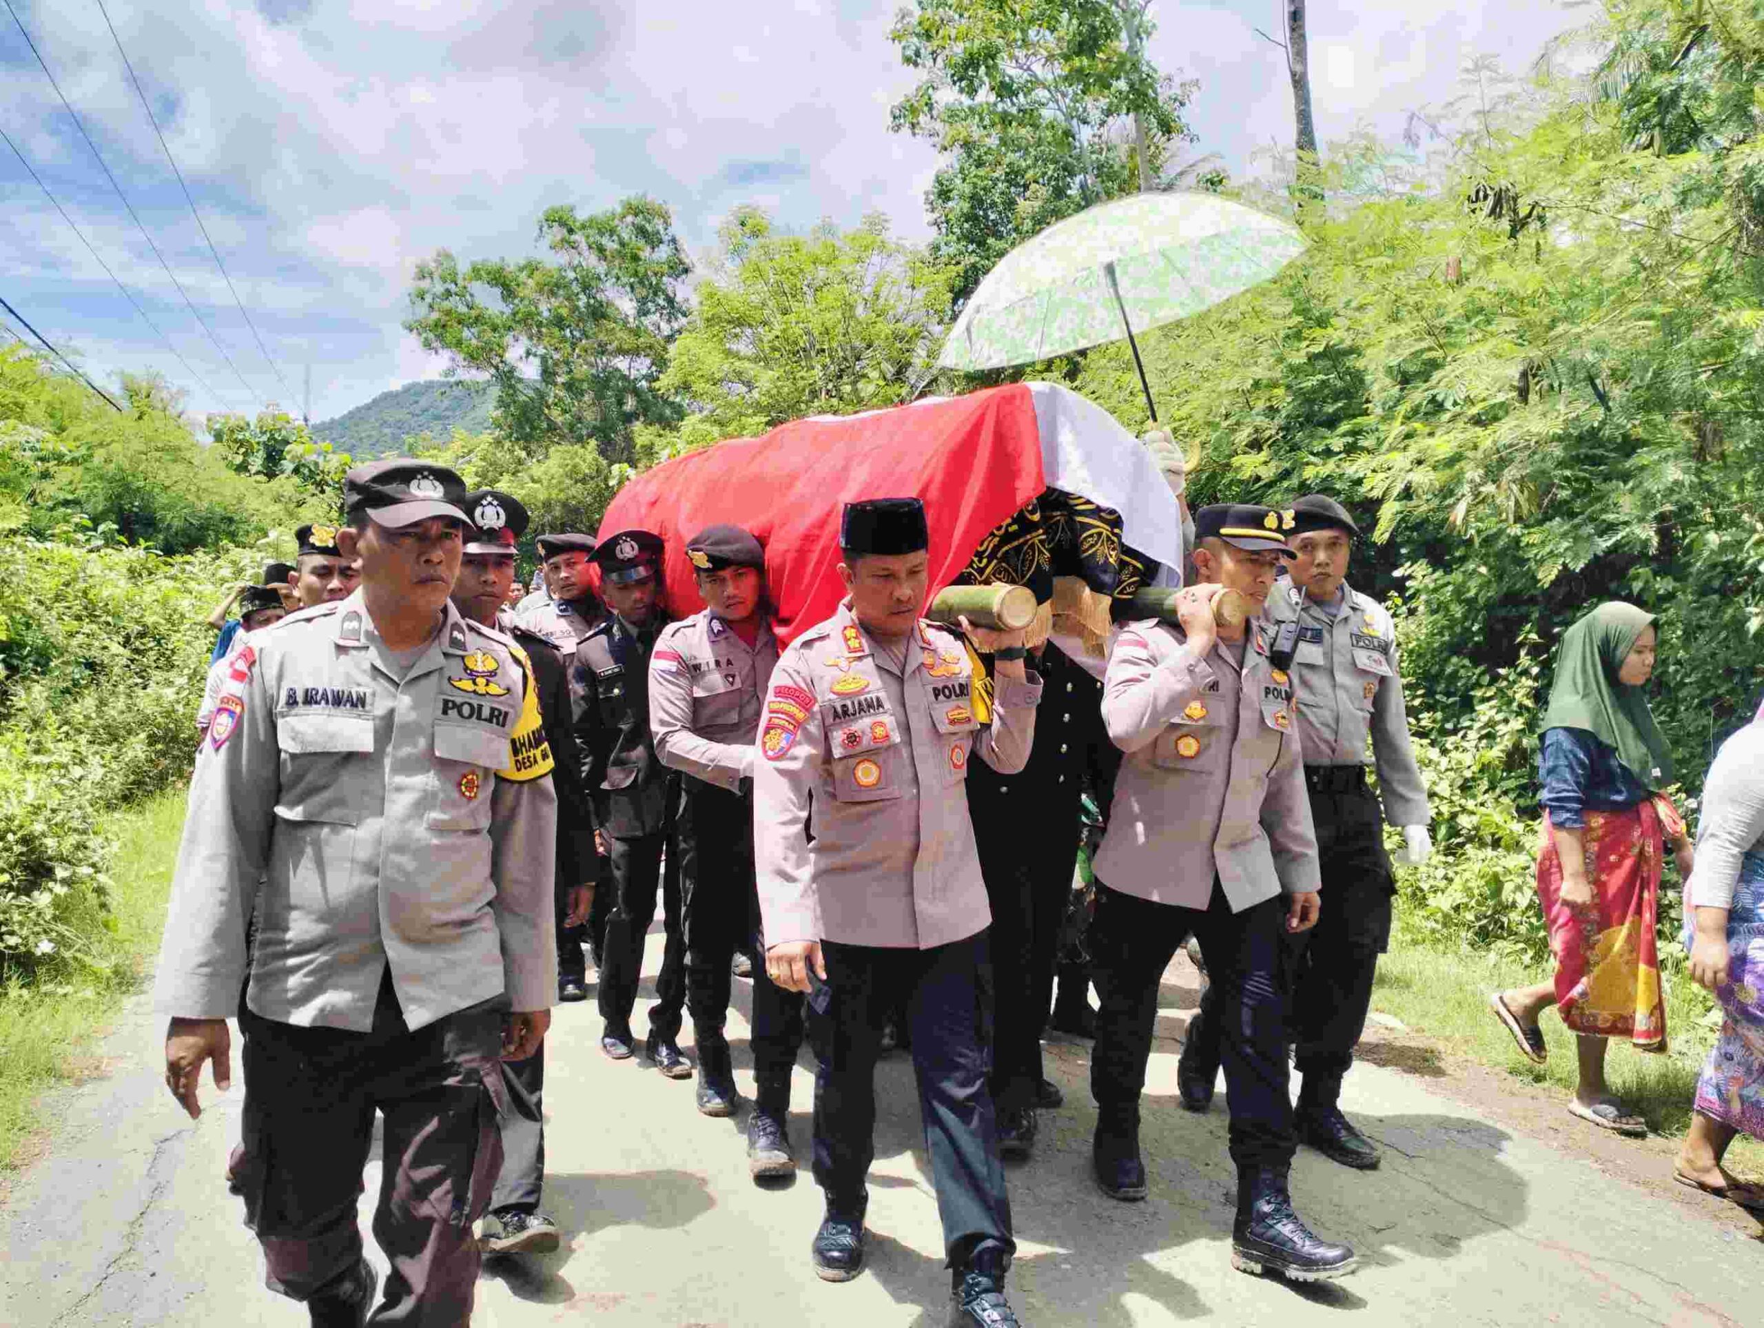
[[[1268,660],[1258,623],[1214,623],[1219,587],[1256,610],[1291,550],[1268,508],[1194,513],[1194,568],[1180,626],[1136,623],[1110,656],[1102,720],[1127,753],[1095,861],[1090,924],[1102,996],[1090,1062],[1094,1168],[1113,1199],[1143,1199],[1140,1093],[1157,988],[1198,935],[1219,1009],[1237,1222],[1231,1261],[1302,1279],[1339,1277],[1353,1250],[1318,1240],[1293,1212],[1286,1032],[1286,935],[1318,917],[1318,855],[1293,730],[1291,679]]]

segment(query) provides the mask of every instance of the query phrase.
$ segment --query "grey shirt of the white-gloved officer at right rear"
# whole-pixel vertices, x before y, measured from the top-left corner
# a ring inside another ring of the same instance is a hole
[[[1346,584],[1337,605],[1305,600],[1300,607],[1298,587],[1281,582],[1263,614],[1272,624],[1298,623],[1293,674],[1305,765],[1365,765],[1371,737],[1385,820],[1392,825],[1432,820],[1409,744],[1395,624],[1385,607]]]

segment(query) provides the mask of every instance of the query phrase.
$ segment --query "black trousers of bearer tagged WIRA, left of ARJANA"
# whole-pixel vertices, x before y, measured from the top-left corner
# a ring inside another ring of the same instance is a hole
[[[753,875],[753,797],[686,778],[677,827],[686,1011],[702,1053],[727,1041],[729,966],[736,951],[766,954]],[[766,1106],[787,1111],[790,1071],[803,1048],[803,993],[785,991],[767,979],[764,961],[753,974],[751,1046],[753,1078]]]

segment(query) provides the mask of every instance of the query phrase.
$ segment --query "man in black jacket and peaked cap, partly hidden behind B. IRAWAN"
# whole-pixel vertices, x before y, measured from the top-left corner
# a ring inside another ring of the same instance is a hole
[[[453,607],[469,623],[496,626],[506,614],[508,587],[515,584],[515,543],[527,529],[527,510],[513,494],[478,489],[466,496],[473,529],[453,582]],[[582,790],[575,739],[570,732],[570,684],[564,665],[550,644],[515,628],[508,633],[533,675],[533,695],[543,723],[543,742],[552,760],[557,790],[557,889],[559,936],[587,917],[600,859],[594,855],[594,813]],[[572,996],[572,991],[575,993]],[[582,947],[575,965],[559,940],[557,1000],[582,1000]],[[540,1212],[545,1182],[545,1044],[526,1060],[503,1062],[508,1109],[501,1116],[503,1169],[483,1219],[480,1245],[485,1254],[549,1254],[557,1249],[557,1224]]]

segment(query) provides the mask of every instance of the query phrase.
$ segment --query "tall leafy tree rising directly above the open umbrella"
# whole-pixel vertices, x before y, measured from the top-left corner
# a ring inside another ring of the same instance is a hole
[[[1194,83],[1150,63],[1150,0],[919,0],[889,34],[924,72],[893,127],[946,164],[926,194],[933,256],[965,300],[1014,245],[1102,199],[1164,182],[1191,141]]]

